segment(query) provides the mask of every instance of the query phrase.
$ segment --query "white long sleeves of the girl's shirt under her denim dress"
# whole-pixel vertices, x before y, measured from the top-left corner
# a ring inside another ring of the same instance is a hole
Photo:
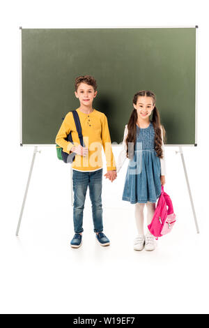
[[[166,163],[165,163],[165,152],[164,152],[164,142],[163,142],[163,132],[162,132],[162,128],[161,128],[161,133],[162,133],[162,156],[163,158],[160,158],[160,173],[161,175],[166,175]],[[127,154],[127,147],[126,147],[126,143],[125,140],[127,138],[127,124],[125,126],[125,131],[124,131],[124,136],[123,136],[123,144],[122,144],[122,150],[118,156],[118,161],[116,163],[116,170],[117,173],[121,170],[121,167],[123,166],[123,164],[125,163],[125,159],[127,158],[126,154]]]

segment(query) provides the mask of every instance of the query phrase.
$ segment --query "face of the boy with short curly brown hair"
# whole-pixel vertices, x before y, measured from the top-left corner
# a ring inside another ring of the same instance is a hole
[[[93,98],[97,95],[98,91],[94,91],[91,85],[86,83],[79,84],[77,91],[75,91],[76,98],[79,99],[80,104],[84,106],[91,106]]]

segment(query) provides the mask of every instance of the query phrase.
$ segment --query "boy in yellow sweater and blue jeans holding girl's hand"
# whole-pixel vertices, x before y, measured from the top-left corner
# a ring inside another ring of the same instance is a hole
[[[76,111],[81,122],[85,147],[82,147],[79,142],[72,112],[68,112],[65,116],[55,141],[66,153],[70,154],[72,151],[76,154],[75,161],[72,162],[75,236],[72,238],[70,246],[79,248],[82,245],[83,212],[87,188],[89,188],[91,198],[95,236],[100,245],[108,246],[109,239],[102,232],[102,147],[107,161],[107,173],[104,176],[106,179],[114,181],[117,174],[111,150],[107,117],[92,107],[93,99],[97,96],[97,84],[92,76],[84,75],[75,79],[75,96],[80,102]],[[70,131],[74,144],[65,140]]]

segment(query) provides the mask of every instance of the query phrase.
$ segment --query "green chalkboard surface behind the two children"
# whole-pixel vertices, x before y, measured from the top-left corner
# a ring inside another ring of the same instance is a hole
[[[75,77],[93,75],[93,107],[121,142],[141,89],[157,96],[168,145],[196,143],[196,27],[20,29],[22,39],[21,144],[55,144],[71,110]]]

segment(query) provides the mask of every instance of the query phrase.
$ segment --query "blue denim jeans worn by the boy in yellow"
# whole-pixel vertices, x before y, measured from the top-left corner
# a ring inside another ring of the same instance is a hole
[[[102,169],[95,172],[79,172],[72,170],[72,183],[74,192],[73,223],[75,233],[83,232],[84,203],[86,191],[92,205],[94,232],[102,232]]]

